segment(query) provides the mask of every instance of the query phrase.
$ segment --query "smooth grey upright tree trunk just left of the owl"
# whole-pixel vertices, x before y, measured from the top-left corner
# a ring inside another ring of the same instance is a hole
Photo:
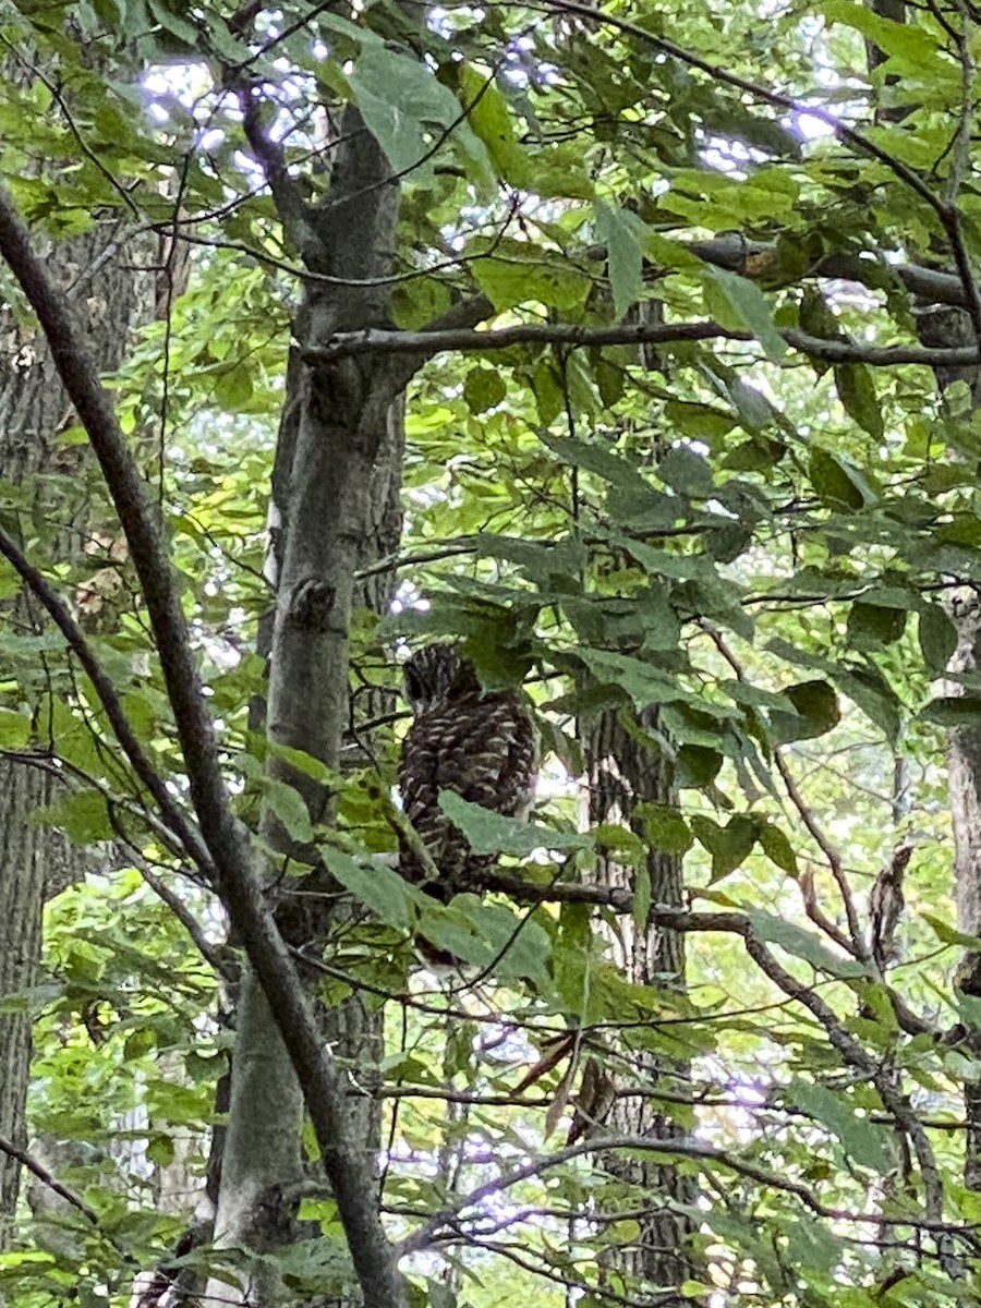
[[[332,277],[385,277],[395,243],[398,188],[357,110],[347,110],[340,139],[330,194],[320,209],[309,213],[307,263]],[[402,383],[395,385],[371,361],[307,366],[302,352],[326,343],[335,331],[385,320],[386,288],[307,286],[293,327],[298,345],[273,471],[271,569],[277,603],[267,732],[271,742],[302,749],[332,769],[345,763],[352,608],[366,602],[385,611],[391,594],[391,576],[378,573],[358,589],[354,574],[398,548]],[[303,794],[314,820],[327,816],[328,797],[319,782],[276,757],[271,768]],[[311,852],[297,849],[272,815],[266,836],[284,852],[286,865],[293,861],[294,871],[314,862]],[[318,892],[327,889],[330,883],[317,872],[275,888],[281,930],[296,948],[322,951],[332,900]],[[315,991],[317,974],[306,980]],[[323,1014],[323,1028],[332,1046],[366,1069],[370,1079],[381,1050],[378,1014],[353,997]],[[352,1099],[356,1103],[356,1138],[373,1164],[377,1113],[370,1100]],[[216,1220],[220,1243],[263,1252],[302,1235],[296,1205],[288,1198],[303,1173],[302,1117],[301,1088],[269,1007],[255,977],[246,973]],[[229,1294],[217,1284],[211,1291]],[[283,1286],[268,1270],[258,1273],[250,1291],[250,1303],[260,1308],[283,1301]]]

